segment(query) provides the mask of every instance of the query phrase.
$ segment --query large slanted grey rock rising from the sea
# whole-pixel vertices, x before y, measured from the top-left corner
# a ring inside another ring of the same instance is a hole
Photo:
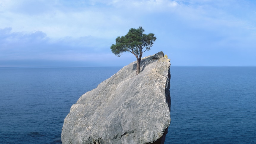
[[[64,119],[63,144],[146,144],[170,125],[170,59],[159,52],[125,66],[72,105]],[[156,142],[157,141],[157,142]]]

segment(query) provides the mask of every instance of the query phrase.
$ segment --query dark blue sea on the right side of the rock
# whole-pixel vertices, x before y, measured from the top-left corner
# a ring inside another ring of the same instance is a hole
[[[256,143],[256,67],[171,67],[168,143]]]

